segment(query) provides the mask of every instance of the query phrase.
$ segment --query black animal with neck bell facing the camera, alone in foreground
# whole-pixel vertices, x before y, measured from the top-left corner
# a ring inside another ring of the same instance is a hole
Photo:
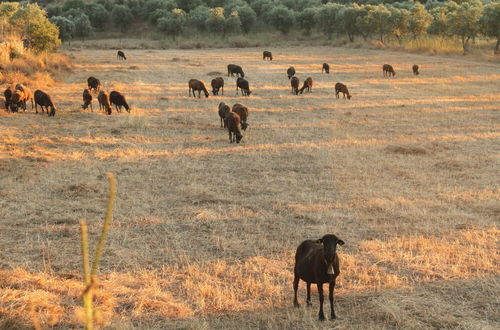
[[[323,283],[329,284],[329,298],[332,320],[336,318],[333,307],[333,290],[335,280],[340,274],[339,256],[337,255],[337,244],[344,245],[344,241],[335,235],[325,235],[316,242],[307,240],[302,242],[295,253],[295,267],[293,270],[293,305],[300,307],[297,299],[299,280],[307,285],[306,303],[311,305],[311,284],[318,286],[319,294],[319,319],[325,320],[323,313]]]

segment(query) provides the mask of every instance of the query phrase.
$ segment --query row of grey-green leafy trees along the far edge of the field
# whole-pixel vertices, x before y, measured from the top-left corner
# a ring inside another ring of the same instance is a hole
[[[274,28],[327,38],[345,34],[349,40],[376,36],[381,42],[415,38],[427,33],[456,36],[464,52],[477,36],[500,39],[500,1],[327,1],[327,0],[67,0],[48,5],[61,38],[85,38],[110,23],[126,33],[147,21],[157,31],[176,38],[186,30],[221,35]]]

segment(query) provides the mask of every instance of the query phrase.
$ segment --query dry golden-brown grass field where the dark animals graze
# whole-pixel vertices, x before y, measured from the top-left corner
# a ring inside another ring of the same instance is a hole
[[[75,50],[74,72],[45,87],[56,117],[0,111],[0,328],[81,324],[78,223],[95,242],[108,171],[118,195],[101,326],[500,328],[499,65],[270,50],[272,62],[262,49],[132,50],[128,61]],[[228,63],[251,97],[235,95]],[[291,95],[289,65],[301,84],[314,79],[311,94]],[[187,81],[209,87],[214,72],[224,96],[189,98]],[[124,92],[131,114],[83,111],[91,75]],[[351,100],[335,98],[338,81]],[[219,126],[221,101],[250,109],[239,145]],[[339,318],[321,323],[315,288],[312,308],[293,308],[292,271],[297,245],[325,233],[346,245]]]

